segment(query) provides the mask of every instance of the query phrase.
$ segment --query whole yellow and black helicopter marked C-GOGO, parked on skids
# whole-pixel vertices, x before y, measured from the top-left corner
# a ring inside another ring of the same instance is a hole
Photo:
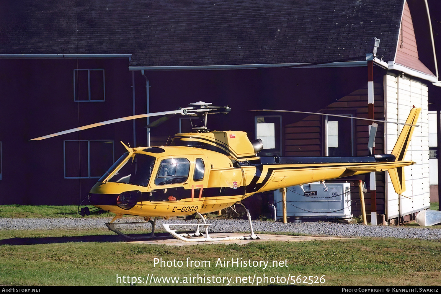
[[[195,132],[175,134],[166,146],[129,147],[123,143],[127,152],[98,180],[88,197],[95,207],[116,214],[106,225],[124,236],[114,227],[115,220],[123,215],[143,216],[147,221],[154,217],[154,236],[157,217],[197,214],[206,231],[205,238],[196,239],[199,242],[215,240],[209,237],[209,224],[202,215],[241,204],[241,200],[253,194],[372,171],[388,171],[396,193],[402,194],[402,167],[415,163],[404,160],[404,156],[420,108],[412,108],[406,123],[402,123],[403,130],[391,154],[358,157],[260,157],[257,155],[263,147],[260,139],[250,141],[243,131],[207,130],[207,114],[228,113],[230,110],[228,106],[214,107],[200,101],[176,111],[113,119],[32,140],[135,118],[190,115],[193,121],[197,121],[192,123]],[[170,225],[163,226],[176,238],[191,241],[188,235],[177,234]],[[240,238],[258,238],[251,221],[250,228],[250,236]],[[198,229],[196,236],[200,235]]]

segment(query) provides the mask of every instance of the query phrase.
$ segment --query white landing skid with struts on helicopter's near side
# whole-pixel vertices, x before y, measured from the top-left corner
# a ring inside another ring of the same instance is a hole
[[[242,203],[238,203],[238,204],[242,205],[247,211],[248,221],[250,222],[250,229],[251,229],[251,234],[249,236],[211,238],[210,235],[208,234],[208,227],[211,226],[211,223],[206,223],[205,218],[199,212],[196,212],[196,214],[201,218],[202,223],[199,223],[198,220],[198,223],[173,223],[173,224],[170,223],[170,224],[163,224],[162,226],[164,227],[165,231],[167,231],[169,234],[172,234],[174,237],[184,242],[209,242],[209,241],[260,239],[258,235],[254,234],[249,210]],[[172,230],[170,226],[197,226],[197,227],[196,227],[196,231],[193,234],[177,234],[176,233],[177,230]],[[199,232],[199,227],[205,228],[205,237],[201,237],[203,236],[203,234]],[[191,238],[191,237],[198,237],[198,238]]]

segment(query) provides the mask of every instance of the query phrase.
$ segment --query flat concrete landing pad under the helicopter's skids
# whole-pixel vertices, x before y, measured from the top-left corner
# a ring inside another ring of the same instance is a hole
[[[151,239],[144,241],[133,241],[131,243],[140,244],[165,244],[169,246],[186,246],[186,245],[196,245],[196,244],[247,244],[249,242],[265,242],[265,241],[284,241],[284,242],[299,242],[299,241],[313,241],[313,240],[339,240],[339,239],[351,239],[345,237],[322,237],[322,236],[287,236],[287,235],[272,235],[272,234],[257,234],[261,239],[259,240],[231,240],[231,241],[209,241],[209,242],[183,242],[176,238],[160,238]],[[210,237],[235,237],[235,236],[246,236],[246,234],[235,234],[235,233],[211,233]]]

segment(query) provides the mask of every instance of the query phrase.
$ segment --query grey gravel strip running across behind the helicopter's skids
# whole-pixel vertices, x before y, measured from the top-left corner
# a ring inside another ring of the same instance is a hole
[[[0,230],[37,230],[37,229],[68,229],[68,228],[105,228],[105,223],[111,219],[105,218],[57,218],[57,219],[7,219],[0,218]],[[125,220],[138,221],[138,220]],[[162,228],[160,223],[190,223],[182,219],[157,220],[157,228]],[[250,231],[247,220],[207,220],[211,223],[210,232],[248,232]],[[117,226],[122,227],[124,226]],[[126,226],[135,228],[134,225]],[[140,225],[136,226],[139,228]],[[150,230],[149,225],[145,226]],[[393,237],[417,238],[424,240],[441,241],[441,229],[426,227],[402,226],[365,226],[363,224],[308,222],[308,223],[280,223],[273,221],[253,221],[254,231],[260,232],[293,232],[312,235],[344,236],[344,237]],[[188,227],[185,227],[189,230]]]

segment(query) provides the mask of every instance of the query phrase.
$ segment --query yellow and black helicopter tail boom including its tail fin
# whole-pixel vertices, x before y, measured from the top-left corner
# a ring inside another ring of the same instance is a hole
[[[396,193],[405,191],[403,167],[415,164],[404,160],[421,108],[412,108],[391,154],[360,157],[261,157],[261,165],[247,194],[297,186],[310,182],[388,171]],[[248,195],[247,195],[248,196]]]

